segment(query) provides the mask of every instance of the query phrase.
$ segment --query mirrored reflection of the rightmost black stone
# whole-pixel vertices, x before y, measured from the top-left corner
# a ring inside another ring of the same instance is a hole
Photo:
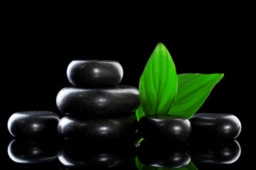
[[[236,140],[205,141],[192,140],[189,143],[192,162],[203,164],[232,164],[240,157],[240,145]]]

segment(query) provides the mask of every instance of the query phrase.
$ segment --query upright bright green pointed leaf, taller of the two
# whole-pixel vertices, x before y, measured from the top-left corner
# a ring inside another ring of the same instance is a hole
[[[159,43],[139,81],[139,99],[145,115],[169,112],[177,92],[177,74],[171,55]]]

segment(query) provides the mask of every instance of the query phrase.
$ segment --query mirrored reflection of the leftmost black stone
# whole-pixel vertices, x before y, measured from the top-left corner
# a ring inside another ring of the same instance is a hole
[[[55,144],[50,142],[21,142],[12,140],[8,147],[8,154],[17,163],[53,162],[57,159],[57,148]]]

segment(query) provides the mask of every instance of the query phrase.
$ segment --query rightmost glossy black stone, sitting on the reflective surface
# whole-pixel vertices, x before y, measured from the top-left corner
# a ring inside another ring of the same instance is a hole
[[[241,131],[240,120],[235,115],[196,113],[190,119],[192,135],[217,139],[235,139]]]

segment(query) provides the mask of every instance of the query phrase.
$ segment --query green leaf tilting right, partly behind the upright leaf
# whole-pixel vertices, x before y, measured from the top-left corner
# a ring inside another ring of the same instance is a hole
[[[178,75],[178,91],[168,114],[191,118],[223,76],[224,74]]]

